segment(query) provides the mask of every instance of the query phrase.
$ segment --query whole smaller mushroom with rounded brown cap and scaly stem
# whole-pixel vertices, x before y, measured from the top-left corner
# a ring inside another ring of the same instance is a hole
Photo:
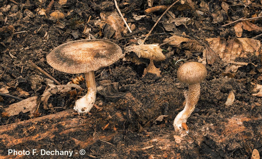
[[[187,118],[194,111],[200,95],[200,82],[206,78],[206,67],[199,62],[187,62],[181,65],[177,70],[177,78],[180,82],[189,84],[188,93],[186,97],[185,108],[178,113],[174,120],[175,131],[180,128],[187,129]]]

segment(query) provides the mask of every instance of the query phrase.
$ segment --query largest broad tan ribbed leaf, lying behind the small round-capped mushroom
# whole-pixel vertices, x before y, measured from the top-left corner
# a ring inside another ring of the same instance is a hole
[[[247,57],[248,54],[258,56],[261,49],[259,40],[249,38],[232,38],[228,42],[224,38],[208,38],[206,41],[212,51],[227,63],[234,62],[237,57]]]

